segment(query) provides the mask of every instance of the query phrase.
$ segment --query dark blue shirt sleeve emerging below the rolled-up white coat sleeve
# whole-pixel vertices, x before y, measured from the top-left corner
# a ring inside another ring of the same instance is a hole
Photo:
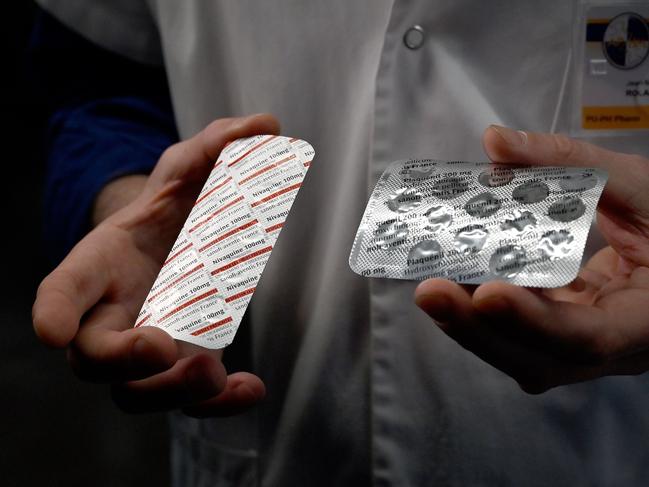
[[[32,35],[29,71],[49,112],[44,233],[58,260],[90,229],[101,188],[149,173],[178,136],[162,67],[106,51],[45,12]]]

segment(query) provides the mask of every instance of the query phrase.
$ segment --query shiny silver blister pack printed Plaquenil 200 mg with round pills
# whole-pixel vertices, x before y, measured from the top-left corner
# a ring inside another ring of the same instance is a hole
[[[606,179],[594,168],[397,161],[372,192],[349,264],[366,277],[563,286]]]

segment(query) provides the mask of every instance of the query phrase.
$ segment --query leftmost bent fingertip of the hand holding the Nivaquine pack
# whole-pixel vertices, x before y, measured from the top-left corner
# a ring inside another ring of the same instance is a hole
[[[34,330],[45,344],[63,348],[74,338],[81,316],[104,294],[111,266],[88,235],[47,276],[38,288],[32,308]]]

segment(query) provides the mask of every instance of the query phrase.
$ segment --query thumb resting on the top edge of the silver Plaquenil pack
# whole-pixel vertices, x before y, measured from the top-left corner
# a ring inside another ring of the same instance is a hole
[[[493,162],[532,166],[597,167],[609,174],[602,204],[637,206],[629,196],[649,182],[647,164],[639,156],[612,152],[561,134],[516,131],[491,125],[482,137],[484,150]],[[643,205],[644,206],[644,205]]]

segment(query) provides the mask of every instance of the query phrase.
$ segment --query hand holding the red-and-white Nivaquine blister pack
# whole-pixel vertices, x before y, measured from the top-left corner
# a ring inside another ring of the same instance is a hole
[[[103,220],[41,283],[33,307],[36,334],[47,345],[67,347],[82,379],[111,384],[122,409],[219,416],[263,397],[258,377],[227,375],[222,351],[133,324],[225,144],[278,131],[270,115],[222,119],[171,146],[139,196]]]

